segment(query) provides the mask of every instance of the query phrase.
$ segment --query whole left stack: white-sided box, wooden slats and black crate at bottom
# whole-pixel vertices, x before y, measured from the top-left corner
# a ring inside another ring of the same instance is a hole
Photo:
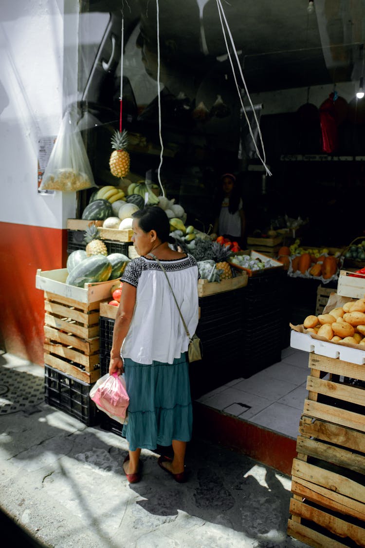
[[[95,424],[89,398],[100,378],[100,304],[115,280],[68,286],[67,269],[37,271],[36,287],[44,291],[45,399],[50,405]]]

